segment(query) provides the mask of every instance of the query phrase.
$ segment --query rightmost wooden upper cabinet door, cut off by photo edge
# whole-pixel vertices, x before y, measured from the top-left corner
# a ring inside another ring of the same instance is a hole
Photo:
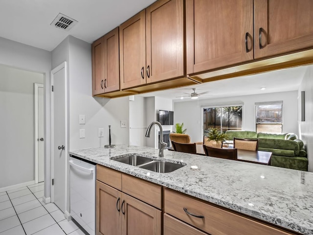
[[[313,47],[313,0],[255,0],[255,58]]]

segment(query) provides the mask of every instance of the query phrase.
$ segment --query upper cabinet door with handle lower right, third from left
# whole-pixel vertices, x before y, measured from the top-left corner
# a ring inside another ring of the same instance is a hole
[[[146,83],[145,10],[119,27],[121,89]]]

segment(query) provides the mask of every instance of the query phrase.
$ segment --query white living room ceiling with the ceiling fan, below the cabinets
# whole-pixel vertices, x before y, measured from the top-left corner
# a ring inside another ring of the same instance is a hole
[[[240,96],[249,94],[265,94],[274,92],[296,91],[302,81],[307,66],[295,67],[279,71],[270,71],[255,75],[229,78],[195,86],[176,88],[166,91],[140,94],[140,96],[158,96],[169,98],[175,102],[190,101],[190,97],[180,99],[179,96],[188,95],[196,88],[197,93],[209,91],[199,96],[199,99],[215,99],[221,97]],[[266,88],[261,90],[261,88]],[[184,94],[188,93],[188,94]]]

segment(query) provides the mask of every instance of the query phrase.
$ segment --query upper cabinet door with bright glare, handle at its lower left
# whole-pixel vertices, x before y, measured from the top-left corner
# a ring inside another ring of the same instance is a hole
[[[146,9],[147,83],[182,77],[183,0],[158,0]]]

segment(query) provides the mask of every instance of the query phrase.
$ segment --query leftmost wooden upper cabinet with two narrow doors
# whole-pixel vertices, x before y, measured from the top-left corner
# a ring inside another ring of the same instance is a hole
[[[92,95],[119,90],[118,27],[91,46]]]

